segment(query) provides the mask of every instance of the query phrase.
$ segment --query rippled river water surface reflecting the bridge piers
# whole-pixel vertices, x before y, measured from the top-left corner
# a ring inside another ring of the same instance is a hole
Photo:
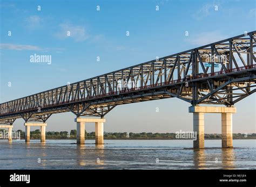
[[[256,169],[256,140],[205,140],[193,150],[192,140],[0,140],[0,169]]]

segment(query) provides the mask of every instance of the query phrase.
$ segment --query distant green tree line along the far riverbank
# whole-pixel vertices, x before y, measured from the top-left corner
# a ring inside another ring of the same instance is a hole
[[[0,131],[4,131],[1,130]],[[6,130],[5,130],[6,131]],[[25,132],[22,130],[18,130],[17,132],[21,132],[21,139],[25,138]],[[40,130],[30,131],[30,139],[40,139]],[[77,130],[68,131],[48,131],[46,132],[46,139],[76,139]],[[85,139],[95,139],[95,132],[86,132],[85,131]],[[176,133],[110,133],[104,132],[104,139],[114,140],[114,139],[122,139],[122,140],[174,140],[176,139]],[[221,139],[221,134],[205,134],[205,139]],[[241,133],[233,133],[233,139],[256,139],[256,133],[252,134],[241,134]]]

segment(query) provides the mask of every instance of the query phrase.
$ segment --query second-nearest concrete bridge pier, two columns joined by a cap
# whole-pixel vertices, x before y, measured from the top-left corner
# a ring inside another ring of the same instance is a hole
[[[106,122],[104,118],[75,118],[77,123],[77,144],[84,144],[85,140],[85,123],[95,123],[95,143],[96,145],[104,143],[104,128]]]

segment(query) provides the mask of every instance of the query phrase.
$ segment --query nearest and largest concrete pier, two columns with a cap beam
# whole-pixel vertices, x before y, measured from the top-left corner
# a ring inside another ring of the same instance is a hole
[[[221,147],[233,147],[232,113],[236,113],[237,108],[190,106],[188,112],[193,113],[193,131],[197,132],[197,140],[193,141],[193,148],[204,148],[204,113],[221,113]]]

